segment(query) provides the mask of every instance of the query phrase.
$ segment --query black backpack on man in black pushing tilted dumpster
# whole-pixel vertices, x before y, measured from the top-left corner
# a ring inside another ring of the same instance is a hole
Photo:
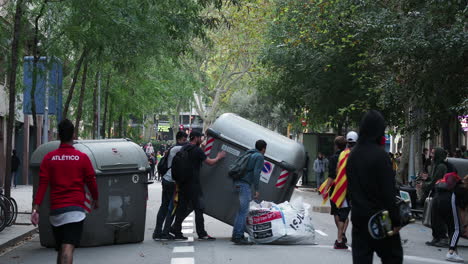
[[[189,152],[195,149],[195,147],[195,145],[182,147],[172,159],[172,179],[179,185],[185,183],[192,176],[193,167],[189,158]]]

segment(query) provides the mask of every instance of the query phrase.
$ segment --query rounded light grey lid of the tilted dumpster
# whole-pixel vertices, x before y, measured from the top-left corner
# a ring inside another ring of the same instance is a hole
[[[255,142],[267,142],[265,156],[278,163],[286,163],[297,170],[305,165],[304,146],[292,139],[262,127],[236,114],[221,115],[210,128],[217,137],[224,138],[245,148],[254,148]]]

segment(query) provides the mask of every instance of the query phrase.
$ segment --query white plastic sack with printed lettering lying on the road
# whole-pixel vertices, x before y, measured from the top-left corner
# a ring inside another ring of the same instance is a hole
[[[309,208],[301,198],[278,205],[251,202],[247,217],[249,239],[260,244],[316,244]]]

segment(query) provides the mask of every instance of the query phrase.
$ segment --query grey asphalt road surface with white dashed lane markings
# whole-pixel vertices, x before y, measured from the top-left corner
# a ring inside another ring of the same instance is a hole
[[[156,242],[151,239],[156,212],[160,203],[160,184],[150,185],[145,241],[137,244],[79,248],[75,252],[75,263],[171,263],[171,264],[221,264],[221,263],[352,263],[350,250],[332,248],[336,233],[335,225],[328,214],[311,212],[313,224],[317,230],[318,245],[254,245],[236,246],[229,241],[232,227],[215,220],[205,218],[208,233],[217,237],[216,241],[197,241],[193,234],[193,217],[184,223],[186,235],[194,238],[187,242]],[[298,190],[293,199],[302,197],[312,205],[321,203],[320,197],[309,191]],[[351,237],[350,230],[347,232]],[[1,235],[1,233],[0,233]],[[404,241],[404,263],[448,263],[444,260],[446,249],[428,247],[425,241],[431,238],[431,232],[420,223],[412,224],[402,230]],[[468,241],[462,239],[459,253],[468,259]],[[25,241],[11,248],[0,256],[1,264],[54,263],[56,253],[52,249],[42,248],[39,237]],[[377,257],[374,263],[380,263]]]

